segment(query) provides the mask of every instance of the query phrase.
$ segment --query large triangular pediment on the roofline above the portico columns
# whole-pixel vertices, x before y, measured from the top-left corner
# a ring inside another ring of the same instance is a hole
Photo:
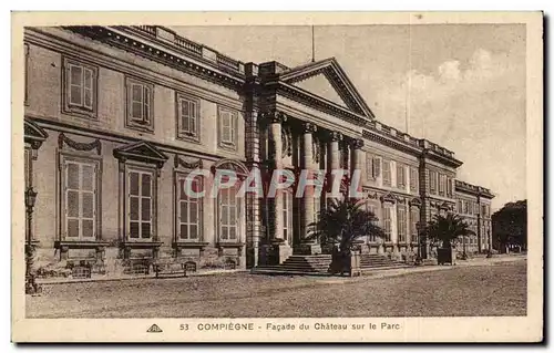
[[[280,80],[366,117],[375,117],[335,58],[285,71]]]

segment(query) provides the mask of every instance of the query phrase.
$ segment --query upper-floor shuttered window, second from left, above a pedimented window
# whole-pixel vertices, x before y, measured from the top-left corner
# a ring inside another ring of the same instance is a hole
[[[151,84],[126,79],[127,87],[127,126],[152,131],[153,93]]]

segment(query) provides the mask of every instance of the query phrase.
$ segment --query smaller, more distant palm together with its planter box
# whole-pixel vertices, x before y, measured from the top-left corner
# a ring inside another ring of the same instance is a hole
[[[429,238],[438,243],[437,262],[439,264],[455,264],[455,239],[469,232],[468,225],[454,214],[447,216],[435,215],[429,224],[427,233]]]

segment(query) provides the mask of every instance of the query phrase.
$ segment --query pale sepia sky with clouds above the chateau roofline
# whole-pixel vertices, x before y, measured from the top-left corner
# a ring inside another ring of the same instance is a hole
[[[311,27],[178,27],[243,62],[311,61]],[[525,25],[315,27],[378,121],[455,153],[458,178],[490,188],[493,209],[524,199]]]

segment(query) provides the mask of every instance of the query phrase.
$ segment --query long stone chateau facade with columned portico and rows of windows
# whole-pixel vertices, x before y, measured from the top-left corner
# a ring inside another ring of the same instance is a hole
[[[147,25],[27,28],[24,53],[34,267],[244,269],[322,251],[306,233],[325,196],[188,198],[183,180],[198,168],[361,170],[386,231],[363,251],[413,253],[417,222],[456,211],[478,251],[490,241],[492,194],[455,180],[453,152],[379,122],[332,58],[243,63]]]

